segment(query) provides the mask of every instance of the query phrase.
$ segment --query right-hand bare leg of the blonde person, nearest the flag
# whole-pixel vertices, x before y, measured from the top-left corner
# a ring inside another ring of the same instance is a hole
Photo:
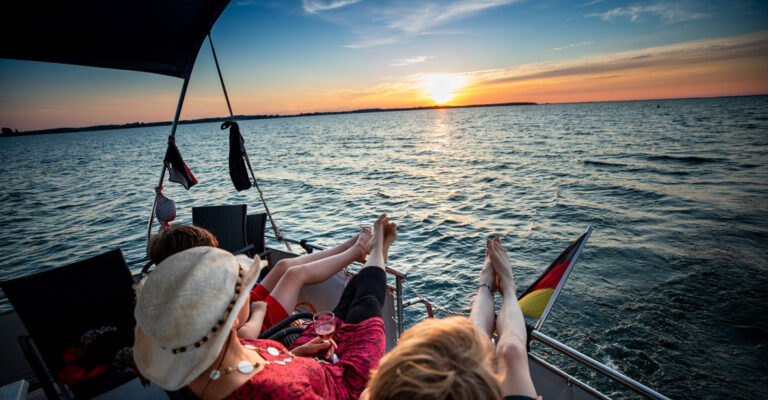
[[[512,264],[506,250],[501,246],[501,239],[494,238],[491,241],[488,254],[491,266],[499,277],[499,286],[506,293],[496,319],[496,330],[499,332],[496,356],[503,376],[502,394],[536,397],[536,388],[533,387],[528,370],[528,352],[525,346],[528,334],[525,330],[525,319],[520,303],[517,302]]]

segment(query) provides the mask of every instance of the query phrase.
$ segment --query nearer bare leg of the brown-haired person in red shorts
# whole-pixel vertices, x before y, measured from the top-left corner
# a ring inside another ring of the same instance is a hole
[[[277,281],[270,295],[290,314],[296,307],[299,291],[304,285],[322,282],[349,264],[355,261],[363,261],[365,259],[363,249],[370,239],[371,229],[363,228],[357,235],[356,242],[346,250],[307,264],[288,268]]]

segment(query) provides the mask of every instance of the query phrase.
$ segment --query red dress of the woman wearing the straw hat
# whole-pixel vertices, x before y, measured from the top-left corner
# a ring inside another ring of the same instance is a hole
[[[285,365],[267,364],[259,373],[227,396],[227,399],[357,399],[365,389],[370,371],[384,356],[384,321],[369,318],[359,324],[339,321],[334,340],[339,345],[336,364],[309,357],[296,357]],[[291,346],[295,348],[315,337],[310,324]],[[240,339],[266,349],[285,347],[272,340]],[[267,361],[286,358],[257,350]]]

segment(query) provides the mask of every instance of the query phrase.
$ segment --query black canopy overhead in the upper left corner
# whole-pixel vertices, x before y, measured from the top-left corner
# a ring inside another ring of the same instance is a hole
[[[2,1],[0,57],[189,78],[229,0]]]

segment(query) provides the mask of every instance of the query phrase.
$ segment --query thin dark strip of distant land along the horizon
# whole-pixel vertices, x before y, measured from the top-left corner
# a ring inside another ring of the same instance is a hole
[[[292,118],[292,117],[311,117],[318,115],[338,115],[338,114],[363,114],[374,112],[390,112],[390,111],[416,111],[416,110],[435,110],[445,108],[472,108],[472,107],[506,107],[506,106],[535,106],[537,103],[533,102],[514,102],[514,103],[494,103],[494,104],[473,104],[469,106],[423,106],[423,107],[403,107],[403,108],[364,108],[360,110],[351,111],[318,111],[312,113],[301,113],[292,115],[280,115],[280,114],[266,114],[266,115],[235,115],[235,120],[247,121],[252,119],[271,119],[271,118]],[[203,124],[208,122],[223,122],[229,120],[229,117],[212,117],[212,118],[198,118],[179,121],[179,125],[189,124]],[[130,128],[147,128],[153,126],[170,126],[173,121],[161,121],[161,122],[130,122],[127,124],[114,124],[114,125],[94,125],[85,126],[80,128],[51,128],[41,129],[34,131],[24,132],[8,132],[4,131],[0,137],[11,136],[30,136],[30,135],[50,135],[56,133],[70,133],[70,132],[87,132],[87,131],[103,131],[112,129],[130,129]]]

